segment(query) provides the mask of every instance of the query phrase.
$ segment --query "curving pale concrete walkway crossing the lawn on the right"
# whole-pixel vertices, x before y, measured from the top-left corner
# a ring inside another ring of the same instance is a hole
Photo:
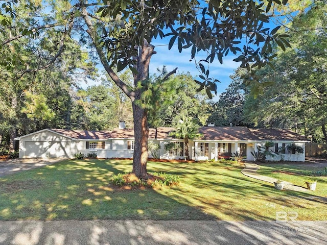
[[[245,165],[245,168],[241,171],[241,173],[243,175],[245,175],[245,176],[251,177],[251,178],[256,179],[256,180],[266,181],[266,182],[269,182],[269,183],[272,183],[272,184],[275,181],[277,181],[277,179],[274,179],[274,178],[271,178],[271,177],[268,177],[268,176],[259,175],[257,173],[257,170],[260,167],[255,163],[245,162],[244,165]],[[302,191],[302,192],[307,192],[308,191],[307,188],[303,188],[301,186],[294,185],[294,184],[292,184],[290,182],[286,182],[286,181],[283,181],[283,182],[284,182],[284,189],[294,190],[294,191]]]

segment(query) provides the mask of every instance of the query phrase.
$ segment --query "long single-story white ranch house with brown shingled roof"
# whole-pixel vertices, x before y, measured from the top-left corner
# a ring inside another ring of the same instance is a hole
[[[159,144],[160,159],[184,159],[183,139],[170,136],[174,128],[150,129],[149,141]],[[295,144],[305,149],[307,139],[290,130],[249,129],[247,127],[200,127],[201,139],[189,140],[190,158],[194,160],[217,160],[229,158],[232,153],[241,153],[245,160],[254,161],[251,152],[271,141],[270,152],[277,153],[270,160],[305,161],[305,153],[288,151],[287,145]],[[132,158],[134,130],[126,129],[124,122],[113,131],[80,131],[43,129],[19,140],[19,158],[74,158],[75,154],[96,153],[98,158]],[[164,144],[174,142],[167,152]],[[152,157],[150,155],[150,157]],[[269,159],[268,159],[269,160]]]

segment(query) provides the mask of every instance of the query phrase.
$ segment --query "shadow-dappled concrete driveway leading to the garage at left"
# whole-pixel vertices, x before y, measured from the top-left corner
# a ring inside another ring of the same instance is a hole
[[[60,162],[63,158],[15,158],[0,160],[0,177]]]

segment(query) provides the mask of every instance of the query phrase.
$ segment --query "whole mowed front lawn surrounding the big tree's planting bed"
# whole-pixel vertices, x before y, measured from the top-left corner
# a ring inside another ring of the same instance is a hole
[[[275,220],[296,211],[299,220],[326,220],[318,192],[279,191],[241,174],[243,164],[148,162],[148,171],[180,176],[177,186],[120,190],[113,174],[130,160],[65,160],[0,178],[0,220],[219,219]]]

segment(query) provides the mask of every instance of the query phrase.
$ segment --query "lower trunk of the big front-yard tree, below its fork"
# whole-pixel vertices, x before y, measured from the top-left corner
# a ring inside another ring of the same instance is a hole
[[[134,140],[135,148],[133,155],[133,171],[138,178],[148,175],[147,161],[148,161],[148,118],[146,111],[137,106],[135,102],[132,103],[133,117],[134,117]]]

